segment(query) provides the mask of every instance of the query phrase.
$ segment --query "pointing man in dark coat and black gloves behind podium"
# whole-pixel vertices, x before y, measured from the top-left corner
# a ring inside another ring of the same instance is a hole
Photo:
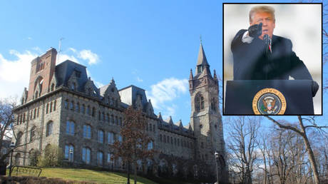
[[[250,11],[250,28],[238,31],[232,40],[234,80],[312,80],[307,67],[294,51],[292,42],[273,35],[275,9],[255,6]]]

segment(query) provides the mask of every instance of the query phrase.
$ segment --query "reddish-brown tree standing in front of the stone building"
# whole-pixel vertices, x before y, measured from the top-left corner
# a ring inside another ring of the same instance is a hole
[[[147,118],[142,111],[137,111],[132,106],[125,109],[123,128],[121,128],[123,139],[115,141],[114,157],[121,157],[125,163],[128,163],[128,183],[130,183],[130,163],[134,165],[134,182],[137,183],[137,161],[153,158],[153,140],[146,132],[147,126]]]

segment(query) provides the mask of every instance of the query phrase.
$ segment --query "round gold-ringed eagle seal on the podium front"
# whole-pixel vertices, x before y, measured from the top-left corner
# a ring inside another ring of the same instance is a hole
[[[255,114],[284,114],[287,103],[285,96],[275,88],[264,88],[253,98],[252,108]]]

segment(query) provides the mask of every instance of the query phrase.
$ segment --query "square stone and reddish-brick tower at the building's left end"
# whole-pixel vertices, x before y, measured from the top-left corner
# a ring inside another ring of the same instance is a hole
[[[56,56],[56,49],[50,48],[42,56],[36,57],[31,62],[27,101],[31,101],[48,93],[49,85],[56,69]]]

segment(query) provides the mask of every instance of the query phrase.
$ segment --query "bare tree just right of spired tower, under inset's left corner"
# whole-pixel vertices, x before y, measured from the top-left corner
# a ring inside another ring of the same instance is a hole
[[[242,183],[252,183],[252,172],[257,153],[257,131],[260,128],[260,118],[239,116],[230,122],[230,167],[240,174]]]

